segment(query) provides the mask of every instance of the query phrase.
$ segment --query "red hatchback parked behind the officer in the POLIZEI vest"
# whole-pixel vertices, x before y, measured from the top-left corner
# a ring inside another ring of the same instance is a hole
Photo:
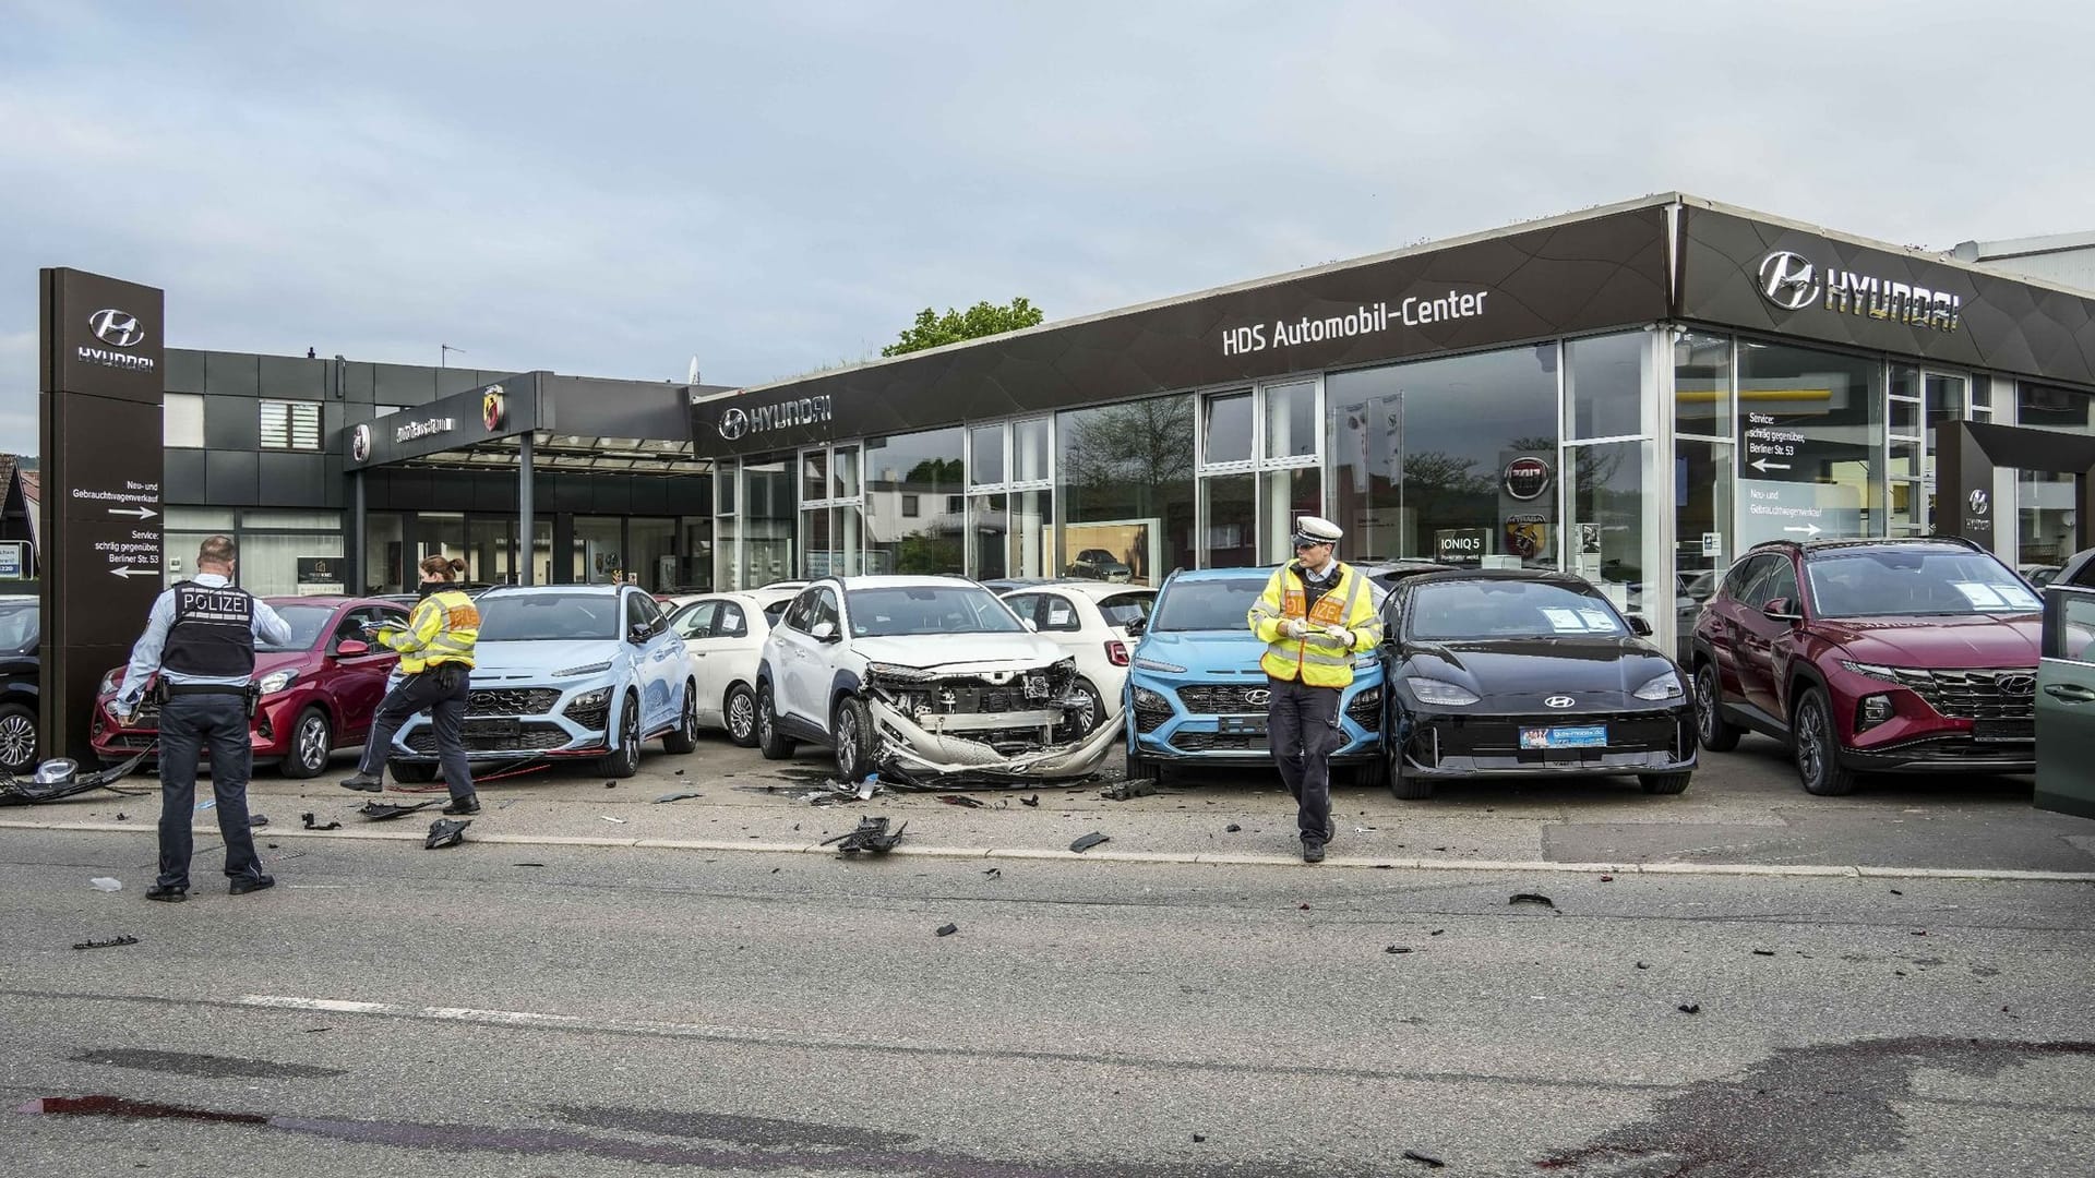
[[[337,748],[362,748],[371,713],[385,696],[398,654],[365,641],[362,623],[406,623],[406,606],[375,597],[264,597],[291,627],[283,646],[256,643],[262,702],[249,725],[258,763],[274,761],[285,778],[312,778]],[[94,755],[124,761],[159,738],[159,708],[149,700],[132,727],[115,713],[124,669],[103,675],[94,696]]]

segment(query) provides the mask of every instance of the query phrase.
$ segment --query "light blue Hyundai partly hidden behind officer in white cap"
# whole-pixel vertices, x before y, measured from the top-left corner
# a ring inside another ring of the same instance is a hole
[[[1270,690],[1259,671],[1265,643],[1253,637],[1249,620],[1272,576],[1272,568],[1198,568],[1165,579],[1121,694],[1129,778],[1159,778],[1167,767],[1272,765]],[[1362,784],[1381,784],[1387,765],[1379,652],[1353,658],[1339,727],[1345,744],[1330,763],[1358,767]]]

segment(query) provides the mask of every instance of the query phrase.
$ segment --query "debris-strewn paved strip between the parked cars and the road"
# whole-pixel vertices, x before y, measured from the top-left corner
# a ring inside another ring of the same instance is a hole
[[[689,757],[647,752],[635,778],[612,782],[561,765],[484,780],[482,813],[467,843],[664,847],[693,851],[836,853],[823,841],[861,817],[907,822],[895,855],[1029,859],[1295,864],[1295,803],[1274,773],[1171,780],[1152,797],[1108,801],[1110,782],[1027,790],[953,790],[811,805],[825,788],[828,755],[763,761],[719,738]],[[388,803],[434,801],[425,811],[369,822],[356,811],[379,794],[339,788],[346,759],[310,782],[262,773],[249,805],[268,815],[268,841],[365,838],[419,845],[446,792],[442,784],[388,788]],[[151,778],[42,807],[0,811],[10,826],[138,830],[153,836],[159,797]],[[693,799],[656,801],[675,792]],[[1037,805],[1027,805],[1035,801]],[[2095,880],[2095,820],[2030,809],[2028,778],[1888,778],[1846,799],[1795,786],[1783,750],[1751,738],[1739,752],[1705,755],[1682,797],[1647,797],[1634,780],[1546,780],[1450,786],[1429,801],[1341,786],[1339,834],[1326,868],[1469,868],[1550,872],[1707,872],[1833,876],[1973,876]],[[318,824],[302,828],[302,813]],[[124,817],[117,817],[124,815]],[[216,834],[210,809],[199,834]],[[1083,851],[1085,834],[1108,841]]]

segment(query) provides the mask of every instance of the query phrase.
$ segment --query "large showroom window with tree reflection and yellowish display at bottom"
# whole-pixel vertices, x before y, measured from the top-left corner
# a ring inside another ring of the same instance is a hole
[[[1194,568],[1194,396],[1056,415],[1064,576],[1161,585]]]

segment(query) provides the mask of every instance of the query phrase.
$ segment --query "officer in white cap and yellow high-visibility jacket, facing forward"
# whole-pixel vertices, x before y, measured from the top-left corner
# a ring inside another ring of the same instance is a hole
[[[1339,696],[1353,681],[1353,656],[1383,641],[1374,593],[1360,570],[1339,564],[1339,524],[1295,522],[1295,560],[1274,570],[1251,606],[1251,633],[1265,643],[1259,669],[1272,696],[1265,729],[1280,778],[1295,794],[1303,861],[1324,861],[1330,843],[1330,755],[1343,744]]]

